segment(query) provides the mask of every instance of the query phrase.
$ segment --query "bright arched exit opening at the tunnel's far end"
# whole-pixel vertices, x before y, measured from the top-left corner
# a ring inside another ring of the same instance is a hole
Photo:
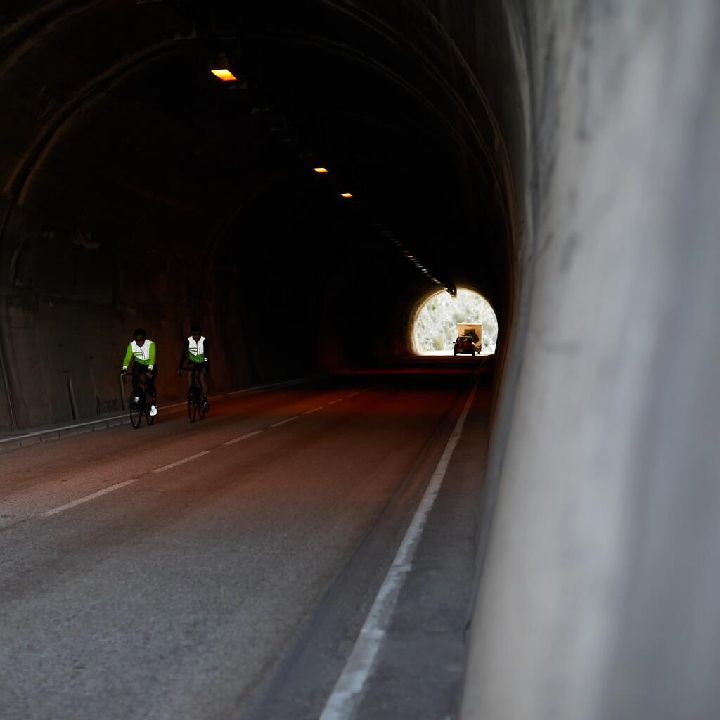
[[[459,288],[456,295],[438,291],[420,302],[412,322],[418,355],[453,355],[458,336],[471,335],[480,355],[495,353],[498,318],[479,292]]]

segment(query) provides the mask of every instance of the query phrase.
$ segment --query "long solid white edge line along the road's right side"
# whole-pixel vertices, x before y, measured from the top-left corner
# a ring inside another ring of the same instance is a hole
[[[356,716],[365,684],[372,672],[387,628],[390,626],[392,613],[395,611],[395,604],[400,595],[400,590],[402,590],[402,585],[413,567],[415,549],[417,549],[420,536],[423,534],[428,514],[433,507],[433,503],[435,503],[435,498],[438,496],[450,458],[462,435],[465,418],[469,413],[476,390],[477,382],[475,382],[472,391],[467,397],[462,413],[460,413],[435,472],[433,472],[433,477],[431,477],[423,499],[420,500],[420,506],[415,512],[410,527],[408,527],[408,532],[405,533],[405,538],[402,540],[400,549],[398,549],[395,559],[392,561],[390,570],[387,571],[382,587],[379,589],[372,608],[370,608],[370,612],[360,630],[343,673],[338,678],[333,692],[330,693],[330,698],[328,698],[319,720],[351,720]]]

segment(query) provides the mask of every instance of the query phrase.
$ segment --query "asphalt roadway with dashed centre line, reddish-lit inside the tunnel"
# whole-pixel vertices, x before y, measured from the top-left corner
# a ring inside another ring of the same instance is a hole
[[[240,396],[194,425],[161,409],[150,428],[4,454],[0,717],[242,716],[423,482],[476,367]]]

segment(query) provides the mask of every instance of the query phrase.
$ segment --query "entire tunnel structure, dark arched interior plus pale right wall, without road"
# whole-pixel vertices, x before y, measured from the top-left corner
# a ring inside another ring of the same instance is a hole
[[[498,317],[464,718],[711,718],[720,6],[4,0],[0,433]],[[210,72],[233,73],[223,81]],[[318,172],[323,168],[326,172]]]

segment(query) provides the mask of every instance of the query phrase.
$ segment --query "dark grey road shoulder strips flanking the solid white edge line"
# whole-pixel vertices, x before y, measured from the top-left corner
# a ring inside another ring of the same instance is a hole
[[[258,688],[248,717],[310,720],[321,714],[465,397],[459,397],[455,411],[441,423],[436,441],[418,459],[397,497],[309,618],[274,678]],[[359,717],[443,718],[452,716],[459,702],[487,459],[489,398],[490,389],[481,379],[366,683]]]

